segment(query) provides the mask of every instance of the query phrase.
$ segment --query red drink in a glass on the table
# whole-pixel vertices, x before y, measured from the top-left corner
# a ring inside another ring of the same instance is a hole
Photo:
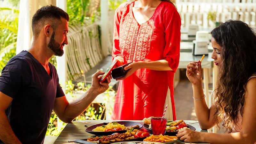
[[[152,117],[151,118],[151,130],[154,135],[164,135],[166,129],[167,119],[166,117]]]

